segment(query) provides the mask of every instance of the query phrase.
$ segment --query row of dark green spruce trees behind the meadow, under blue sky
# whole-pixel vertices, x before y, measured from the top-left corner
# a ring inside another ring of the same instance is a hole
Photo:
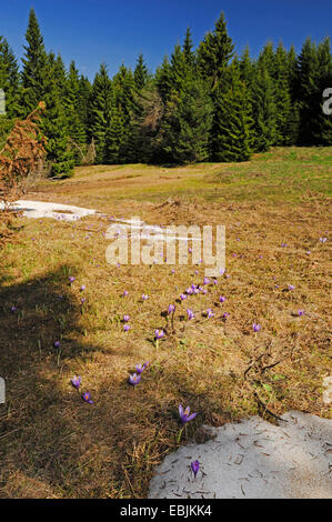
[[[329,38],[308,38],[298,56],[272,42],[256,59],[248,47],[238,56],[221,13],[195,49],[188,29],[154,73],[140,54],[133,71],[122,63],[113,78],[102,63],[92,83],[74,61],[67,69],[47,52],[33,9],[26,40],[20,67],[0,37],[0,144],[16,119],[44,101],[51,175],[71,175],[89,161],[247,161],[271,145],[332,144],[332,119],[322,111],[322,92],[332,87]]]

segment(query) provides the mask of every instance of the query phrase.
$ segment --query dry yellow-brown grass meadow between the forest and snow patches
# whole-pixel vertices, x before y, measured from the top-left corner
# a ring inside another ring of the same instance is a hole
[[[331,373],[330,247],[319,240],[328,235],[331,154],[278,149],[245,164],[81,168],[27,194],[149,223],[225,224],[230,278],[180,304],[204,267],[111,267],[107,219],[22,219],[0,261],[0,498],[147,496],[153,465],[178,446],[179,403],[199,412],[181,443],[203,441],[203,423],[258,412],[273,422],[262,404],[276,415],[331,415],[321,388]],[[170,303],[174,333],[163,314]],[[168,335],[157,349],[161,328]],[[129,372],[144,361],[150,369],[133,389]],[[93,405],[70,385],[74,374]]]

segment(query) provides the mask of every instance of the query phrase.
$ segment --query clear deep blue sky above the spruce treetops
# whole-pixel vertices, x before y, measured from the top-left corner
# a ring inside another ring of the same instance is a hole
[[[153,71],[188,26],[198,44],[221,11],[237,51],[249,43],[253,56],[268,40],[299,51],[308,36],[320,41],[332,26],[331,0],[0,0],[0,34],[18,58],[31,7],[47,50],[67,66],[74,59],[91,80],[101,62],[113,76],[122,61],[133,68],[140,52]]]

